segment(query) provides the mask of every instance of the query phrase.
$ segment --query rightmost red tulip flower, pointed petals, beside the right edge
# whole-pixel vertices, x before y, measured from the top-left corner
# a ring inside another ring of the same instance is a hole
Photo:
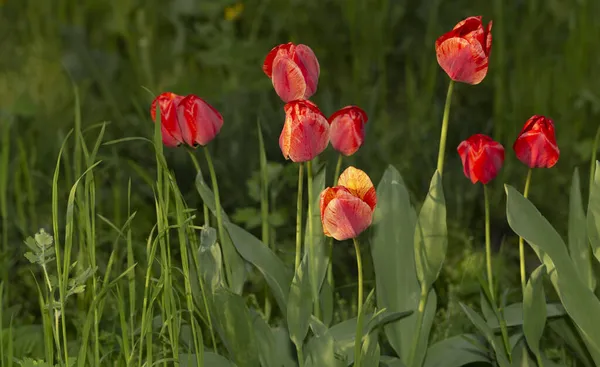
[[[556,145],[552,120],[544,116],[532,116],[523,126],[513,149],[517,158],[529,168],[554,166],[560,151]]]

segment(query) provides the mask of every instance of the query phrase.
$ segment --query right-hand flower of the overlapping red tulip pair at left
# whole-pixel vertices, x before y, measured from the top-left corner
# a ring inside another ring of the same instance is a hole
[[[221,131],[223,117],[202,98],[190,94],[177,109],[181,135],[189,146],[206,145]]]

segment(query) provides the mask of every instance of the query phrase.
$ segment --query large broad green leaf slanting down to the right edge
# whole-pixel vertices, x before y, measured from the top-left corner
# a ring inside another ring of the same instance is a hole
[[[540,212],[511,186],[506,186],[508,223],[537,253],[565,310],[597,353],[600,351],[600,301],[581,280],[566,245]]]

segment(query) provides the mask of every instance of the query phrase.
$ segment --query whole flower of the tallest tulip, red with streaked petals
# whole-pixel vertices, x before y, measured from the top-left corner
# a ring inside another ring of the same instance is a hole
[[[485,78],[492,49],[492,22],[469,17],[435,41],[438,63],[450,79],[479,84]]]

